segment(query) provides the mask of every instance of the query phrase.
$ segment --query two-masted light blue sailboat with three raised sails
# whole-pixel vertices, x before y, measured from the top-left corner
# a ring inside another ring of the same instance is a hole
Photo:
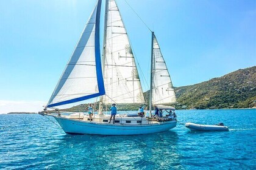
[[[105,114],[107,104],[146,103],[129,37],[115,0],[105,2],[103,54],[100,52],[98,0],[65,70],[44,111],[54,117],[66,134],[138,135],[169,131],[177,120],[171,114],[152,116],[152,106],[161,112],[174,111],[165,104],[176,103],[171,77],[157,38],[152,32],[151,87],[148,117],[117,114],[115,122]],[[93,119],[84,113],[52,114],[47,109],[99,98],[99,112]]]

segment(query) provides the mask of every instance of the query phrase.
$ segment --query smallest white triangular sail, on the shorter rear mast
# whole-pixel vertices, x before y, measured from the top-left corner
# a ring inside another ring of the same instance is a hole
[[[171,77],[155,35],[153,43],[152,104],[176,103]]]

